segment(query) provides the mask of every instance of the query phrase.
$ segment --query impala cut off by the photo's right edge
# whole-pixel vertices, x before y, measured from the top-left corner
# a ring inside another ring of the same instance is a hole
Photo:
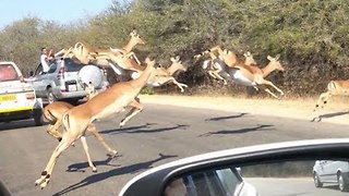
[[[330,81],[327,84],[327,91],[320,95],[314,108],[314,112],[316,112],[320,108],[324,108],[332,96],[349,96],[349,79]],[[316,119],[321,121],[320,117],[315,117],[312,121],[315,121]]]

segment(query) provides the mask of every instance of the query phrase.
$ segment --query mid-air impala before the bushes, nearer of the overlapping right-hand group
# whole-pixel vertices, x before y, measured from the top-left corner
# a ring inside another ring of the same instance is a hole
[[[226,79],[232,79],[234,83],[243,85],[243,86],[253,86],[255,89],[258,89],[261,85],[268,85],[275,88],[280,95],[284,95],[284,91],[276,87],[270,81],[265,79],[268,74],[270,74],[275,70],[284,71],[284,66],[278,61],[280,58],[279,54],[276,58],[267,57],[269,63],[265,65],[263,69],[260,69],[254,65],[245,65],[243,63],[236,64],[234,66],[228,66],[225,61],[218,59],[213,51],[206,51],[209,53],[210,58],[214,59],[215,64],[220,65],[221,72],[219,74]],[[264,88],[266,93],[272,95],[275,98],[279,98],[274,93],[272,93],[268,88]]]

